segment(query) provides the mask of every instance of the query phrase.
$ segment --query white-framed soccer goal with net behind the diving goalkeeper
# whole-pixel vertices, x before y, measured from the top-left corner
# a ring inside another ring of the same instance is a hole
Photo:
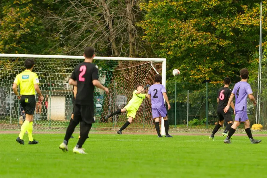
[[[24,112],[12,91],[15,76],[24,71],[24,60],[34,58],[33,72],[39,76],[40,89],[44,96],[41,102],[36,94],[34,130],[65,131],[72,113],[72,90],[69,77],[83,56],[0,54],[0,130],[19,130],[24,121]],[[137,83],[153,84],[153,76],[162,74],[162,84],[166,83],[166,59],[95,57],[99,81],[109,88],[105,94],[95,89],[95,119],[93,130],[110,131],[121,127],[127,120],[126,115],[104,116],[123,108],[132,97]],[[147,90],[145,90],[147,92]],[[151,105],[146,99],[140,106],[133,123],[125,131],[152,131],[154,121]],[[162,134],[165,135],[164,124]]]

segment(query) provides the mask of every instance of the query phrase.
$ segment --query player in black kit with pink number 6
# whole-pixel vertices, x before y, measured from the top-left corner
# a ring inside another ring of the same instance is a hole
[[[223,111],[232,93],[232,90],[229,88],[229,85],[231,84],[230,78],[225,77],[223,80],[223,83],[224,83],[224,86],[220,88],[217,93],[217,103],[218,103],[217,114],[219,117],[219,122],[214,127],[211,136],[209,136],[209,139],[212,139],[212,140],[214,139],[215,133],[220,129],[220,127],[222,127],[224,120],[228,123],[228,125],[225,127],[225,130],[222,133],[222,136],[228,136],[227,132],[230,130],[231,126],[233,125],[233,118],[232,118],[230,111],[228,111],[227,113]],[[231,107],[233,108],[235,112],[235,106],[233,102],[231,102]]]

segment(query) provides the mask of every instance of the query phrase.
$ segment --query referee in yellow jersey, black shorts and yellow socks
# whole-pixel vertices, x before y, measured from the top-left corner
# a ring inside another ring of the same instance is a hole
[[[20,135],[16,141],[24,145],[23,136],[26,130],[28,131],[29,144],[38,144],[38,141],[34,140],[32,137],[32,124],[33,124],[33,114],[35,110],[35,90],[39,94],[41,101],[44,99],[39,88],[39,79],[36,73],[32,72],[34,67],[33,59],[26,59],[25,62],[26,70],[18,74],[15,78],[12,89],[18,99],[20,100],[21,106],[23,107],[26,118],[25,122],[21,126]],[[20,94],[18,93],[17,86],[20,85]]]

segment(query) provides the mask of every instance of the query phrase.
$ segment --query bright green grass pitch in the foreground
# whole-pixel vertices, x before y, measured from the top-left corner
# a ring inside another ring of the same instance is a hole
[[[267,177],[267,141],[250,144],[246,136],[234,136],[224,144],[208,136],[90,134],[84,144],[88,155],[69,153],[59,144],[63,134],[35,134],[38,145],[19,145],[17,134],[0,136],[0,177]]]

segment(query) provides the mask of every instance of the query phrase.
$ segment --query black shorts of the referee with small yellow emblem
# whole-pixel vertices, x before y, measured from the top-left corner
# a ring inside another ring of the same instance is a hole
[[[34,95],[22,95],[20,104],[26,114],[33,115],[35,111],[36,100]]]

